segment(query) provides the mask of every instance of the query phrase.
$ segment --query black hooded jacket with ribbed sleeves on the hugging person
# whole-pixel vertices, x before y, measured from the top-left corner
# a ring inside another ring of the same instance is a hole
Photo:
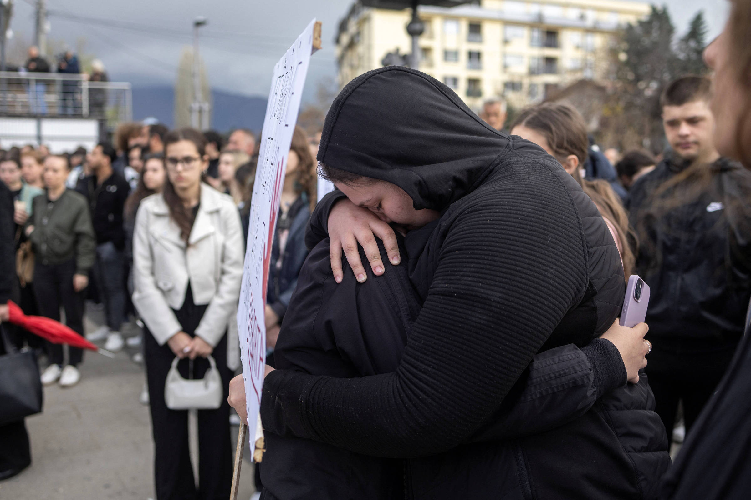
[[[264,382],[264,427],[375,457],[437,455],[421,468],[415,461],[421,470],[411,466],[415,496],[466,496],[474,477],[464,469],[443,476],[440,491],[426,490],[433,460],[463,452],[457,446],[514,397],[541,348],[584,345],[611,325],[625,288],[617,248],[556,160],[488,127],[453,91],[415,70],[385,67],[350,82],[327,115],[318,160],[396,184],[415,208],[442,217],[410,269],[423,307],[397,370],[357,379],[276,370]],[[629,428],[640,437],[628,447],[607,412],[590,411],[581,417],[590,424],[567,424],[544,440],[544,451],[530,443],[539,451],[532,460],[561,464],[552,473],[538,463],[517,466],[518,443],[482,444],[460,465],[492,472],[477,476],[476,498],[602,499],[605,490],[639,498],[669,459],[650,401],[633,403],[639,411],[627,411]],[[583,434],[590,430],[594,436]],[[656,457],[653,466],[637,469],[629,448]],[[590,488],[608,462],[608,487]]]

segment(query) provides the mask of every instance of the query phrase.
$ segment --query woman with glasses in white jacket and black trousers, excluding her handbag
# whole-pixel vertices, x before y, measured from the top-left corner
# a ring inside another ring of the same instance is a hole
[[[162,193],[143,199],[134,231],[133,304],[146,324],[158,500],[224,500],[230,494],[228,328],[240,296],[243,230],[232,199],[201,182],[208,166],[205,145],[198,130],[165,136],[168,181]],[[175,357],[181,358],[177,366],[184,378],[201,379],[210,367],[209,355],[216,360],[224,394],[219,409],[198,411],[197,490],[188,412],[167,409],[164,385]]]

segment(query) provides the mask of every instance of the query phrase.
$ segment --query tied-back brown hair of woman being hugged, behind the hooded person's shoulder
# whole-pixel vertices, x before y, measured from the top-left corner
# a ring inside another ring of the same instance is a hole
[[[566,103],[542,103],[524,109],[511,125],[511,130],[520,125],[541,133],[547,146],[559,163],[563,163],[570,154],[579,160],[579,168],[584,166],[590,154],[590,141],[587,138],[587,125],[581,114]],[[573,178],[592,199],[600,214],[607,217],[616,228],[620,237],[623,253],[624,278],[631,275],[636,263],[634,249],[637,246],[636,235],[629,226],[629,216],[623,208],[618,195],[607,181],[597,179],[589,181],[581,177],[579,168],[574,169]]]

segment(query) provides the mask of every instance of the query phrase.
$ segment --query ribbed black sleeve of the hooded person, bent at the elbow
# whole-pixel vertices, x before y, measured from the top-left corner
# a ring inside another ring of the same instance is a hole
[[[381,457],[469,441],[587,287],[578,213],[560,185],[540,189],[549,182],[486,186],[457,212],[395,373],[272,372],[264,427]]]

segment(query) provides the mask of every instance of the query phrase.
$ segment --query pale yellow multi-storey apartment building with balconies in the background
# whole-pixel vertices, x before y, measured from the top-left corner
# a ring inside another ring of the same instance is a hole
[[[482,0],[422,5],[419,69],[453,88],[472,109],[503,96],[526,106],[580,79],[608,78],[614,34],[650,13],[628,0]],[[411,10],[352,5],[339,23],[339,86],[381,67],[389,52],[412,52]]]

